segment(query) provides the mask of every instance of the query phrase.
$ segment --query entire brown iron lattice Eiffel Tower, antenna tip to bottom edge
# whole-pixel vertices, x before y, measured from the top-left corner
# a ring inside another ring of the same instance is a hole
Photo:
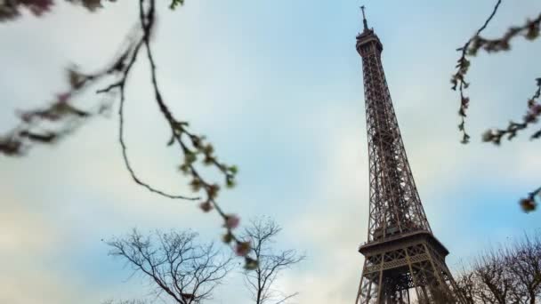
[[[432,235],[409,168],[374,29],[357,36],[367,111],[370,207],[356,304],[464,303]]]

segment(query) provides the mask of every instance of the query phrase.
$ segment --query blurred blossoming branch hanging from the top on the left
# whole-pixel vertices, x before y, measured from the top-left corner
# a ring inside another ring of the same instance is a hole
[[[81,2],[86,6],[91,2],[95,1],[71,1],[71,2]],[[100,1],[98,1],[100,3]],[[173,0],[171,2],[170,8],[174,9],[178,5],[182,5],[184,2],[182,0]],[[22,2],[17,2],[17,5],[22,4]],[[13,3],[13,5],[15,5]],[[13,6],[15,8],[19,6]],[[47,9],[50,8],[52,4],[47,5]],[[0,6],[2,9],[4,6]],[[97,7],[97,6],[96,6]],[[87,7],[91,9],[91,7]],[[93,6],[92,9],[95,7]],[[169,126],[171,132],[171,138],[167,142],[167,146],[178,146],[182,153],[183,162],[179,166],[180,171],[184,174],[190,176],[190,188],[198,193],[203,191],[205,193],[205,198],[199,204],[199,207],[204,212],[210,212],[215,210],[223,220],[223,228],[226,232],[223,236],[223,241],[226,244],[231,244],[235,252],[242,257],[246,258],[246,268],[253,268],[253,265],[256,263],[255,260],[247,256],[250,251],[250,243],[241,241],[236,234],[234,229],[238,227],[239,218],[235,214],[225,212],[220,204],[216,201],[218,193],[220,191],[220,185],[217,182],[206,180],[206,178],[198,170],[199,165],[213,166],[220,172],[223,176],[223,184],[227,188],[232,188],[235,186],[235,176],[238,172],[238,169],[234,165],[223,164],[214,156],[214,147],[206,142],[205,136],[197,135],[193,132],[190,132],[189,124],[185,121],[179,120],[174,117],[173,113],[170,111],[166,104],[166,100],[160,92],[157,72],[156,72],[156,60],[152,53],[152,48],[150,44],[150,39],[154,31],[155,20],[156,20],[156,0],[140,0],[139,1],[139,24],[136,28],[133,28],[133,31],[127,35],[126,42],[121,46],[119,55],[116,56],[115,60],[107,67],[104,68],[100,73],[94,75],[85,75],[80,73],[76,69],[69,70],[69,83],[70,91],[59,95],[59,102],[62,105],[62,112],[58,111],[58,102],[55,103],[52,108],[46,108],[44,110],[35,110],[25,112],[25,115],[21,116],[23,120],[22,127],[15,128],[12,132],[9,132],[6,136],[0,137],[0,152],[4,153],[6,156],[15,156],[21,155],[30,143],[52,143],[54,140],[57,140],[61,134],[66,133],[64,129],[61,129],[60,132],[34,132],[26,128],[26,120],[28,122],[34,122],[36,120],[58,120],[63,116],[77,116],[79,118],[91,116],[92,112],[81,111],[72,104],[69,103],[70,99],[78,92],[81,92],[85,87],[92,84],[97,84],[99,80],[105,78],[113,78],[113,81],[98,90],[97,93],[108,93],[114,94],[119,93],[119,135],[118,140],[122,148],[122,156],[125,163],[125,166],[130,172],[133,180],[143,188],[147,188],[149,191],[156,193],[160,196],[165,196],[168,198],[174,199],[185,199],[185,200],[197,200],[199,197],[188,197],[188,196],[179,196],[171,195],[164,191],[158,190],[153,186],[150,186],[147,182],[141,180],[141,178],[134,172],[133,166],[130,163],[127,156],[127,147],[125,145],[124,133],[125,133],[125,116],[124,116],[124,107],[125,107],[125,86],[127,84],[127,79],[132,71],[133,65],[138,59],[138,55],[141,49],[144,49],[146,52],[146,57],[150,66],[150,83],[154,91],[154,100],[157,103],[161,114],[166,119],[166,122]],[[59,113],[61,114],[59,114]],[[63,115],[63,116],[61,116]],[[28,118],[29,117],[29,118]],[[69,129],[71,130],[71,129]]]

